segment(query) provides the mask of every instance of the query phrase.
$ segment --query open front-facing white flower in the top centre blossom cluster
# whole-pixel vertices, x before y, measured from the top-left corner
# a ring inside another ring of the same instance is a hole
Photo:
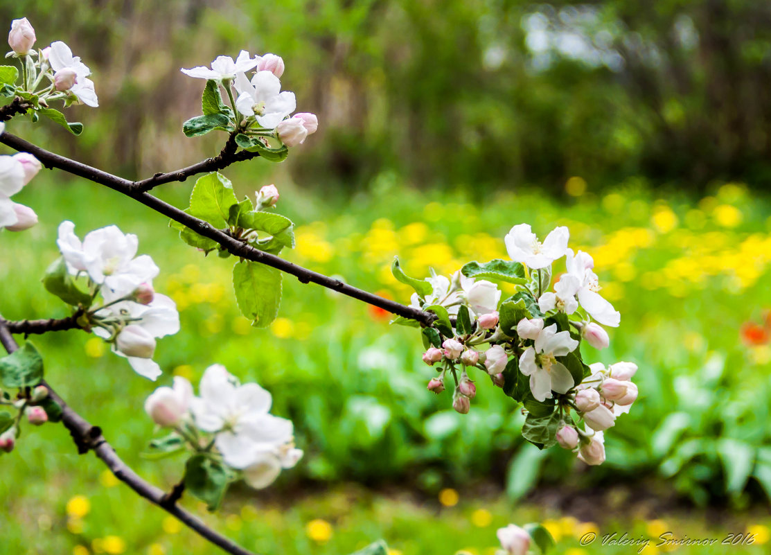
[[[274,129],[297,107],[295,93],[281,93],[281,81],[269,71],[255,73],[251,82],[245,73],[238,73],[234,85],[239,93],[238,111],[247,117],[255,116],[265,129]]]

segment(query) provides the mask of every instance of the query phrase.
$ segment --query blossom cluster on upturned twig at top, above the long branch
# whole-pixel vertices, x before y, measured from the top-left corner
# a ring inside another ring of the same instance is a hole
[[[181,70],[197,79],[214,81],[223,86],[231,107],[241,114],[235,118],[236,129],[258,139],[278,137],[286,146],[296,146],[318,129],[318,118],[312,113],[291,113],[297,108],[295,93],[281,91],[279,78],[284,74],[284,60],[275,54],[255,55],[241,50],[234,60],[218,56],[210,67],[197,66]],[[254,71],[251,79],[247,72]],[[234,96],[233,89],[237,96]],[[291,117],[290,117],[291,116]]]

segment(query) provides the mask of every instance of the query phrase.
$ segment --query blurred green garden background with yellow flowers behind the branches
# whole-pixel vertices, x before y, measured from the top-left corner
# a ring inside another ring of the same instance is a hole
[[[505,257],[521,222],[571,230],[621,311],[611,347],[585,356],[637,362],[641,396],[607,434],[608,461],[577,463],[520,437],[524,417],[484,376],[469,415],[425,385],[414,330],[313,285],[284,284],[280,318],[250,328],[231,260],[204,259],[167,221],[61,172],[15,200],[41,223],[3,233],[6,318],[66,315],[39,277],[56,227],[107,224],[140,237],[157,290],[183,331],[159,343],[165,375],[197,382],[221,362],[274,395],[305,458],[268,491],[236,487],[218,529],[261,553],[348,553],[384,537],[393,555],[488,555],[495,530],[546,520],[558,553],[633,553],[606,533],[753,545],[677,553],[765,553],[771,540],[766,344],[740,328],[771,307],[771,7],[762,2],[0,2],[38,44],[67,42],[93,72],[99,109],[69,109],[78,138],[42,123],[7,130],[126,177],[216,153],[224,136],[186,139],[202,81],[180,67],[240,49],[284,57],[284,89],[321,126],[290,158],[225,170],[239,195],[268,183],[298,226],[291,261],[402,302],[388,270],[449,273]],[[212,134],[214,135],[214,134]],[[187,206],[191,183],[157,193]],[[137,471],[175,483],[183,459],[139,453],[155,387],[70,331],[35,338],[62,396],[105,430]],[[761,343],[763,343],[761,341]],[[120,395],[117,394],[120,392]],[[25,433],[2,458],[0,553],[211,553],[212,548],[79,457],[60,426]],[[584,533],[598,540],[579,545]],[[643,553],[662,553],[653,547]]]

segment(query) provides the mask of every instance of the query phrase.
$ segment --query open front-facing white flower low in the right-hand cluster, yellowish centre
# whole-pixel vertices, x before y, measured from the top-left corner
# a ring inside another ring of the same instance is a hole
[[[557,332],[552,324],[540,331],[534,347],[528,347],[520,357],[520,372],[530,376],[530,391],[538,401],[551,399],[551,392],[567,393],[574,385],[573,376],[555,357],[574,351],[578,341],[569,331]]]

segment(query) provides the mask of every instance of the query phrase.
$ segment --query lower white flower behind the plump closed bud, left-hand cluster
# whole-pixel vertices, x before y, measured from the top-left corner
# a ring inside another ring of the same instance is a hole
[[[163,294],[155,294],[153,302],[146,305],[133,301],[120,301],[110,304],[108,307],[97,311],[96,317],[105,321],[117,321],[118,325],[121,322],[128,324],[129,326],[126,327],[138,326],[153,338],[174,335],[177,331],[180,331],[180,314],[177,312],[177,305]],[[123,330],[125,331],[125,328]],[[107,328],[95,327],[93,331],[94,334],[103,339],[108,339],[112,335],[112,332]],[[154,381],[161,375],[160,366],[151,358],[124,353],[120,350],[120,345],[113,345],[113,352],[116,355],[128,358],[134,372],[143,375],[145,378]]]

